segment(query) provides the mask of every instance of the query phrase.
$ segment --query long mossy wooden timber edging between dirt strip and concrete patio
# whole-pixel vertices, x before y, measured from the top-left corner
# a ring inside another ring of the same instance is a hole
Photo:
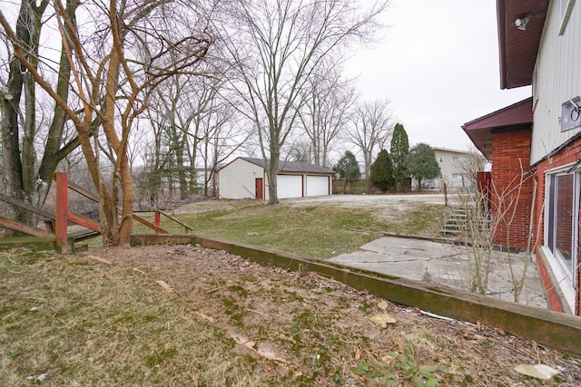
[[[522,335],[557,350],[581,355],[581,318],[572,314],[509,303],[447,286],[350,269],[269,248],[237,245],[206,237],[194,237],[194,240],[202,247],[225,250],[261,264],[331,276],[345,285],[367,290],[399,304],[475,324],[479,322],[501,327],[507,333]]]

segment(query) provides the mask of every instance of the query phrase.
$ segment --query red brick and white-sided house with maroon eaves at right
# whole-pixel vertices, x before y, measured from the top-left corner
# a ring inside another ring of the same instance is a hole
[[[579,3],[497,0],[500,87],[532,85],[533,95],[463,125],[492,161],[499,193],[493,195],[493,216],[505,210],[515,215],[495,243],[516,249],[530,244],[550,307],[576,315],[581,315]]]

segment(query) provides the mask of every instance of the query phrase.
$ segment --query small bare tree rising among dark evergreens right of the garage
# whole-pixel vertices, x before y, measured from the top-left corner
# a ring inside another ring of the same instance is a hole
[[[351,117],[351,127],[347,139],[363,155],[367,192],[371,193],[371,164],[373,155],[385,148],[393,132],[393,115],[389,110],[389,101],[363,102],[355,108]]]

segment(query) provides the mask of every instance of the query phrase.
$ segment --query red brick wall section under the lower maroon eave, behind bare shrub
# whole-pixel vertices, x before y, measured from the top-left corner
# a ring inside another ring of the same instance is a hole
[[[521,177],[531,169],[529,155],[529,129],[492,132],[490,201],[493,224],[497,224],[493,239],[496,246],[527,249],[534,175]]]

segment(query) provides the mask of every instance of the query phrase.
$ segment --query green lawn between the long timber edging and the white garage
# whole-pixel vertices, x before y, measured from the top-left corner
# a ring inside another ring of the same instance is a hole
[[[192,234],[271,247],[300,256],[326,258],[351,251],[380,236],[438,236],[447,208],[425,203],[395,206],[389,220],[378,219],[377,209],[342,208],[337,205],[293,207],[268,206],[256,202],[235,203],[231,209],[176,215],[194,228]],[[182,233],[183,227],[162,217],[162,227]],[[136,233],[149,232],[141,225]]]

